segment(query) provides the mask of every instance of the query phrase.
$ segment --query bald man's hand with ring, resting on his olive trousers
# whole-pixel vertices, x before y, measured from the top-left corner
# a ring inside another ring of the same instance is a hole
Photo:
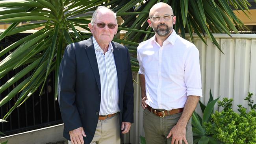
[[[188,144],[186,139],[186,126],[173,126],[169,135],[167,135],[167,138],[170,137],[172,137],[171,144],[182,144],[182,140],[185,142],[185,144]]]

